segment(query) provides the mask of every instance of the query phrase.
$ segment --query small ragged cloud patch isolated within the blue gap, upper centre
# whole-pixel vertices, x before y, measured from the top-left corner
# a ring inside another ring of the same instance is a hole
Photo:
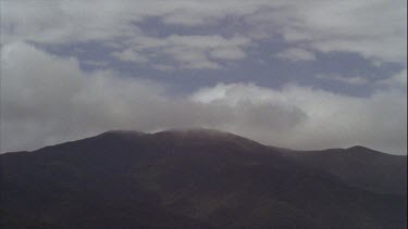
[[[123,52],[114,52],[113,55],[123,61],[139,63],[149,61],[154,63],[156,68],[169,65],[165,63],[168,61],[172,63],[172,68],[189,69],[221,68],[218,61],[244,59],[246,56],[244,49],[251,43],[244,37],[224,38],[219,35],[172,35],[164,38],[140,36],[129,42],[132,48]],[[164,63],[160,63],[163,59]]]

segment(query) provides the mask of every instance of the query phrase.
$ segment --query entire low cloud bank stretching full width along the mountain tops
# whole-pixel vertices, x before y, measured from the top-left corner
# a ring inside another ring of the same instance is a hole
[[[1,152],[34,150],[110,129],[209,127],[268,144],[324,149],[362,144],[407,150],[406,90],[349,97],[287,85],[218,84],[182,97],[112,71],[84,72],[16,42],[1,49]]]

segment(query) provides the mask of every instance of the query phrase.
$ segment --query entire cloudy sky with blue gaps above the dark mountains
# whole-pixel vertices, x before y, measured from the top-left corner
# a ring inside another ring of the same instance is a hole
[[[407,154],[405,0],[0,0],[0,152],[215,128]]]

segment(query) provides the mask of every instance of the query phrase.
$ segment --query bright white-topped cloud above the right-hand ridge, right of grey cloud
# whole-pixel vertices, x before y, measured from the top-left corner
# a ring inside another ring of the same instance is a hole
[[[284,128],[261,128],[243,122],[226,122],[223,129],[258,141],[295,149],[344,148],[362,144],[392,153],[407,152],[407,100],[400,90],[379,90],[369,98],[288,85],[280,90],[246,84],[220,84],[193,96],[205,104],[223,104],[239,111],[240,104],[272,104],[280,111],[297,111],[298,122],[282,122]],[[285,109],[283,109],[285,107]],[[262,123],[273,123],[273,115]]]

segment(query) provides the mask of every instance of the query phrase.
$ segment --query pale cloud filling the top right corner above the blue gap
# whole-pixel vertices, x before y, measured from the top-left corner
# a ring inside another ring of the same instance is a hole
[[[407,1],[290,1],[246,17],[252,36],[281,35],[323,53],[357,53],[373,62],[405,64]]]

